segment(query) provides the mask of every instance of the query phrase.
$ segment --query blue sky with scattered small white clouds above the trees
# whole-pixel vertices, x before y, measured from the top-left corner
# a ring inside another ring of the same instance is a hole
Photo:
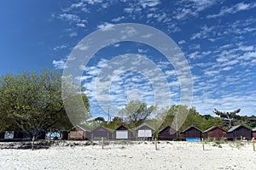
[[[215,108],[241,109],[241,115],[252,116],[256,112],[255,16],[254,1],[4,0],[0,6],[0,75],[44,68],[63,71],[77,44],[90,33],[137,23],[165,33],[183,52],[193,81],[191,106],[196,111],[213,115]],[[143,61],[154,63],[148,73],[143,72]],[[130,63],[136,65],[124,69]],[[169,94],[162,95],[169,96],[169,105],[180,103],[182,77],[165,55],[148,44],[113,42],[98,50],[86,65],[77,66],[83,71],[77,78],[86,88],[92,116],[106,117],[108,110],[115,116],[117,108],[132,99],[155,105],[159,93],[154,86],[159,81],[166,81],[160,86],[168,87]],[[112,66],[114,74],[108,70]],[[111,77],[108,83],[99,81],[103,76]],[[99,87],[108,93],[97,98],[103,93]],[[104,100],[106,95],[108,100]]]

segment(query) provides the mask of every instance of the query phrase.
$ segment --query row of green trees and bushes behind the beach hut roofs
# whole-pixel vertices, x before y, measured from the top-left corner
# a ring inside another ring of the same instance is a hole
[[[149,126],[154,127],[156,132],[160,129],[172,125],[175,122],[175,114],[178,111],[186,111],[188,113],[185,122],[179,128],[179,131],[183,131],[185,128],[194,125],[201,128],[201,130],[207,130],[212,126],[223,127],[228,130],[230,127],[243,124],[247,127],[256,127],[256,116],[239,116],[240,111],[222,112],[214,110],[216,116],[201,115],[195,108],[188,108],[185,105],[172,105],[170,108],[157,110],[156,106],[148,106],[141,101],[131,101],[128,105],[125,105],[119,116],[115,116],[112,121],[106,122],[103,117],[97,117],[94,126],[99,124],[115,129],[121,124],[125,124],[127,127],[138,127],[143,122],[147,122]],[[151,116],[154,113],[154,116]],[[174,127],[175,128],[175,127]]]

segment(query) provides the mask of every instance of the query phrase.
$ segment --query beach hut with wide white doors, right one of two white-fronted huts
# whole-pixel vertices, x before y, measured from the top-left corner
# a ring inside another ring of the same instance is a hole
[[[152,135],[154,129],[149,127],[146,123],[143,123],[141,126],[135,128],[137,134],[137,140],[152,140]]]

